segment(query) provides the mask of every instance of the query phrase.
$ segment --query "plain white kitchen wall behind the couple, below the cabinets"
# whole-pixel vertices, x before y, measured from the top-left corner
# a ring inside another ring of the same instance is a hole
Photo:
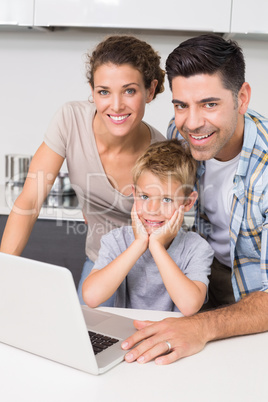
[[[105,35],[104,29],[0,31],[0,184],[5,181],[4,155],[33,154],[55,111],[71,100],[90,95],[84,73],[84,54]],[[127,32],[131,33],[131,32]],[[162,57],[192,36],[174,32],[136,31]],[[252,86],[250,107],[268,115],[268,42],[263,38],[237,39],[246,63],[246,79]],[[145,120],[163,133],[173,114],[171,93],[166,90],[147,105]]]

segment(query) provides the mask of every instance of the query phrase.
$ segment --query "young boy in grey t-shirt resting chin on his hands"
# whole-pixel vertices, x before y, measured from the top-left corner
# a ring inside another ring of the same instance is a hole
[[[196,313],[207,293],[213,251],[198,234],[182,230],[196,201],[196,162],[178,140],[151,145],[133,169],[132,227],[102,238],[83,285],[97,307],[116,292],[116,307]]]

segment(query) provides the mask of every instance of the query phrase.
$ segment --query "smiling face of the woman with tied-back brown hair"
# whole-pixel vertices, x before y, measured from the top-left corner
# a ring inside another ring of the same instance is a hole
[[[141,73],[129,64],[103,64],[94,73],[92,95],[98,133],[125,136],[139,130],[146,103],[153,99],[157,80],[145,89]]]

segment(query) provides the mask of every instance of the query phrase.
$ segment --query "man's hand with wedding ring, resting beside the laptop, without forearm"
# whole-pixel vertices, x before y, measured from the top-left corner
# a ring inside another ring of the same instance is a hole
[[[155,359],[156,364],[163,365],[200,352],[207,343],[200,322],[198,315],[159,322],[134,321],[138,331],[122,343],[122,348],[130,349],[143,342],[128,352],[125,360],[147,363]],[[171,345],[170,353],[166,341]]]

